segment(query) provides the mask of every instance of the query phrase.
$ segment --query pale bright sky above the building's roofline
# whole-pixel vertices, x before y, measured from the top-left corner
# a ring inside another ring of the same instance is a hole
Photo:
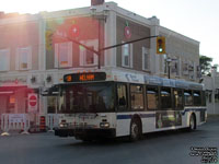
[[[0,0],[5,13],[37,13],[89,7],[91,0]],[[108,0],[105,0],[108,2]],[[219,0],[114,0],[138,15],[155,15],[160,25],[200,42],[199,54],[219,65]]]

